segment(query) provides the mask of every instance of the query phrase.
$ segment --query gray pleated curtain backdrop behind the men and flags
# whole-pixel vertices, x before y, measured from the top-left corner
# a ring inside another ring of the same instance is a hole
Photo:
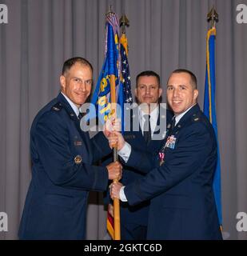
[[[0,24],[0,212],[8,214],[8,232],[18,224],[30,182],[30,126],[35,114],[59,91],[66,58],[80,55],[102,68],[105,13],[110,4],[130,21],[129,65],[132,86],[137,73],[155,70],[162,85],[178,67],[193,70],[203,106],[206,14],[215,5],[217,23],[217,124],[221,151],[224,237],[237,232],[237,212],[247,213],[247,24],[237,24],[237,4],[246,0],[2,0],[9,23]],[[163,95],[165,102],[165,94]],[[41,220],[42,221],[42,220]],[[102,194],[88,208],[88,239],[106,238]]]

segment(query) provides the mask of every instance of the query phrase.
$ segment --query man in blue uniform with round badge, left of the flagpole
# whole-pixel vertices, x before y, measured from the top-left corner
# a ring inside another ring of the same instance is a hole
[[[84,58],[64,63],[61,93],[38,115],[30,131],[32,180],[19,229],[21,239],[84,239],[90,190],[107,189],[118,178],[118,162],[92,163],[109,154],[102,133],[90,139],[80,128],[79,108],[90,95],[93,68]]]

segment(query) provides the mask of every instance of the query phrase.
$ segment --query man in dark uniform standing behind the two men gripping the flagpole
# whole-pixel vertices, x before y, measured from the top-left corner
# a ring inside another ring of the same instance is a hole
[[[158,105],[161,94],[160,77],[157,73],[146,70],[137,75],[135,96],[138,106],[131,112],[130,130],[124,132],[124,138],[131,146],[136,146],[138,150],[146,150],[150,154],[158,152],[164,138],[161,131],[156,130],[160,122],[165,122],[166,118]],[[137,124],[136,130],[133,123]],[[144,177],[148,171],[125,166],[121,182],[128,185]],[[141,202],[137,206],[129,206],[128,203],[122,202],[120,210],[122,240],[146,239],[149,201]]]

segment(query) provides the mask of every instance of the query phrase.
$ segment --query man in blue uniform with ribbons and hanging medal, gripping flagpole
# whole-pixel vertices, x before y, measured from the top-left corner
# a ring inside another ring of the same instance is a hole
[[[158,158],[151,159],[118,137],[118,150],[128,151],[125,162],[151,170],[127,186],[111,188],[112,197],[136,205],[151,198],[148,239],[221,239],[213,196],[217,141],[213,127],[197,105],[197,78],[189,70],[175,70],[167,82],[173,122]],[[110,139],[110,143],[116,137]]]

